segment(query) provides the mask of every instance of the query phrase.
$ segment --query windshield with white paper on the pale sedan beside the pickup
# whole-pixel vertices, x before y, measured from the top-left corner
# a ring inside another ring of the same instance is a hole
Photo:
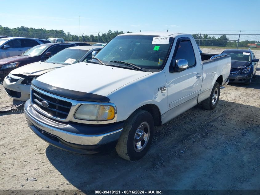
[[[45,62],[70,65],[77,63],[87,52],[88,50],[67,48],[53,55]]]

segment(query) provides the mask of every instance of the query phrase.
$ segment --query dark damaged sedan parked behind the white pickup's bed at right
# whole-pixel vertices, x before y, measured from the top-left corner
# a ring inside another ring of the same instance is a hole
[[[253,51],[242,49],[227,49],[222,54],[230,55],[231,69],[228,77],[230,83],[250,84],[256,73],[257,62]]]

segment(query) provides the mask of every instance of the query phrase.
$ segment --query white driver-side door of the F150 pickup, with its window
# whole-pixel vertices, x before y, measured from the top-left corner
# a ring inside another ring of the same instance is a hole
[[[177,39],[169,71],[165,70],[167,91],[168,91],[168,110],[170,118],[178,116],[180,113],[192,108],[197,104],[198,94],[202,85],[202,67],[198,57],[197,45],[194,40],[188,37]],[[188,68],[181,72],[174,72],[176,60],[186,59]],[[169,117],[169,116],[168,116]]]

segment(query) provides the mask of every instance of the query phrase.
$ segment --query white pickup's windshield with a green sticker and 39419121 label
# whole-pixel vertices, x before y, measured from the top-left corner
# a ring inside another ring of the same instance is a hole
[[[152,35],[115,37],[95,56],[106,65],[123,61],[145,69],[161,69],[166,62],[173,38]],[[126,67],[126,64],[117,63]],[[148,71],[148,70],[147,70]]]

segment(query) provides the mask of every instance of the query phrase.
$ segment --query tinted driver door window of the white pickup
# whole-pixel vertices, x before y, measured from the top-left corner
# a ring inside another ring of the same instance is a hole
[[[175,60],[178,59],[186,59],[188,61],[188,67],[196,65],[195,54],[190,40],[180,42],[175,56]]]

